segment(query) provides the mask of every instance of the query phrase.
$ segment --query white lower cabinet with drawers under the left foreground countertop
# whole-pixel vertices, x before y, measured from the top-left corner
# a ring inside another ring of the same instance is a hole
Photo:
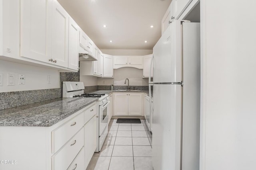
[[[85,170],[96,149],[96,102],[50,127],[0,126],[4,170]]]

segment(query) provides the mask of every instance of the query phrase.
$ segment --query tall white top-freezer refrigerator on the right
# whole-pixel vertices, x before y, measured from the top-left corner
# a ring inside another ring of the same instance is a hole
[[[153,167],[199,170],[200,23],[172,22],[153,54]]]

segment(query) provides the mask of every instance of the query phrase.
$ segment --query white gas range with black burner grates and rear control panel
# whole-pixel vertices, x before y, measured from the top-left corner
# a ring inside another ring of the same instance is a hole
[[[98,98],[98,115],[97,117],[97,148],[95,152],[99,152],[102,145],[106,139],[108,133],[108,106],[109,98],[108,94],[92,94],[84,93],[84,83],[83,82],[63,82],[62,87],[62,97],[63,98]]]

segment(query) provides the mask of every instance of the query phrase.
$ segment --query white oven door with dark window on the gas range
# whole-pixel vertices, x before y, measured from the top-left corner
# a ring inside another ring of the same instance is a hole
[[[103,130],[108,125],[108,105],[110,101],[99,106],[99,136],[102,135]]]

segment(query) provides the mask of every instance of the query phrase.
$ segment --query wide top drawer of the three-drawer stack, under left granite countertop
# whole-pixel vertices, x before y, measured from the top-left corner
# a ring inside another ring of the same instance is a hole
[[[80,113],[70,121],[52,131],[52,153],[59,150],[84,125],[84,114]]]

